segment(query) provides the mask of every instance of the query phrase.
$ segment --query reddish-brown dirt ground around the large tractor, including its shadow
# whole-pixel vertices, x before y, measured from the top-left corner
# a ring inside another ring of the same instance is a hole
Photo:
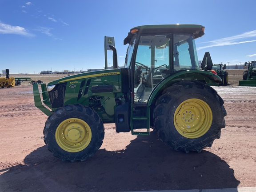
[[[227,116],[212,148],[175,152],[154,131],[150,136],[132,136],[116,133],[115,124],[104,124],[100,150],[91,159],[75,163],[61,161],[47,150],[43,140],[47,116],[34,106],[32,86],[2,88],[0,192],[256,187],[256,87],[237,87],[232,76],[230,82],[214,87],[224,99]]]

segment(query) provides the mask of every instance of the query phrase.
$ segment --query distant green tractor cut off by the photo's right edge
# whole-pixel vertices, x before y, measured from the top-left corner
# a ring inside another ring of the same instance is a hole
[[[244,67],[246,65],[247,62],[244,63]],[[256,87],[256,61],[248,62],[248,70],[244,71],[243,80],[239,81],[238,86]]]

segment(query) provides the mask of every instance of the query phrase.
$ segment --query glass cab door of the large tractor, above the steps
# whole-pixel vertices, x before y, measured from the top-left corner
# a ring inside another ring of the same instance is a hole
[[[147,104],[153,88],[165,78],[169,42],[167,35],[140,36],[134,63],[134,104]]]

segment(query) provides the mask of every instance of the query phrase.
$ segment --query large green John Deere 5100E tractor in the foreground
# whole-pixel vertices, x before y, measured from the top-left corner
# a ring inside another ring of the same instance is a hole
[[[114,69],[33,84],[35,105],[48,116],[48,150],[61,160],[87,160],[100,148],[107,123],[138,136],[152,128],[176,151],[211,147],[225,127],[226,111],[208,85],[222,82],[211,72],[208,52],[200,70],[195,39],[203,35],[204,26],[196,24],[138,26],[124,39],[124,68],[118,69],[110,46]]]

